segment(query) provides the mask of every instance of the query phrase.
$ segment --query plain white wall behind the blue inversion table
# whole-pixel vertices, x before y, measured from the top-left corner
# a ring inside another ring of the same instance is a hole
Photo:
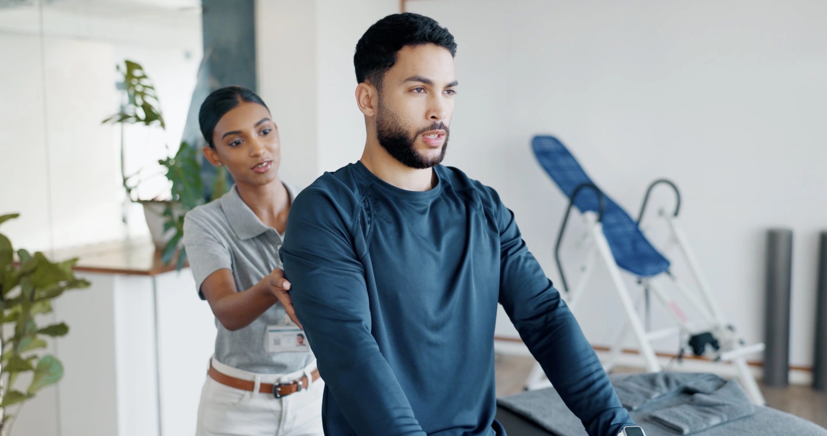
[[[827,227],[825,2],[419,0],[408,10],[459,45],[446,164],[500,192],[552,280],[566,201],[530,153],[538,133],[560,137],[633,215],[649,182],[674,180],[700,263],[750,341],[763,337],[764,232],[795,230],[791,363],[811,364],[816,236]],[[616,300],[605,277],[590,292],[594,308],[577,315],[608,344]]]

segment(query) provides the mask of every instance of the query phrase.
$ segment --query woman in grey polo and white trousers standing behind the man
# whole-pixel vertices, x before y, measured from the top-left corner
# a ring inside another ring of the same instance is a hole
[[[218,327],[196,435],[322,435],[323,381],[278,302],[284,280],[273,271],[298,193],[279,178],[275,122],[261,98],[240,87],[210,94],[198,122],[204,156],[236,184],[184,220],[189,265]]]

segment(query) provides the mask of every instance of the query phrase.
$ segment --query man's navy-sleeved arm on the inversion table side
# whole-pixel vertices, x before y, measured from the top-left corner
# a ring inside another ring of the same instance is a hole
[[[500,304],[523,342],[591,436],[634,425],[571,310],[528,252],[514,213],[491,192],[500,228]]]

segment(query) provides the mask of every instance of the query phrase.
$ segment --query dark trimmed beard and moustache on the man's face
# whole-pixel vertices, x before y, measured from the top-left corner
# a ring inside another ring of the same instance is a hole
[[[436,158],[425,158],[414,148],[419,135],[428,130],[445,130],[445,141],[442,143],[442,150]],[[410,135],[399,116],[382,104],[379,99],[379,107],[376,111],[376,138],[379,144],[394,159],[410,168],[424,169],[437,166],[442,159],[445,159],[445,150],[448,147],[448,127],[439,122],[433,122],[431,126],[418,130]]]

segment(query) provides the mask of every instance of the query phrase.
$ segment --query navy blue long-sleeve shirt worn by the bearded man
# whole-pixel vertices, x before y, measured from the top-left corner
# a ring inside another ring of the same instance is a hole
[[[327,383],[327,436],[493,435],[497,303],[591,435],[633,425],[494,189],[434,168],[427,192],[361,163],[291,206],[280,255]]]

